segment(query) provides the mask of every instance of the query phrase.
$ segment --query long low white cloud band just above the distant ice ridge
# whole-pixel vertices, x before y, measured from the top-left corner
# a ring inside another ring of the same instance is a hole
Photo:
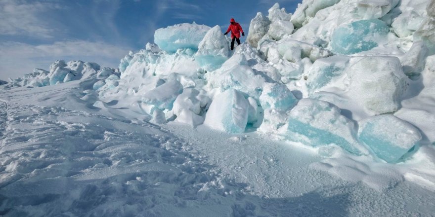
[[[101,66],[117,67],[129,48],[104,42],[85,40],[58,41],[51,44],[31,45],[20,42],[0,43],[0,79],[18,77],[34,68],[47,69],[55,60],[72,58],[96,62]]]

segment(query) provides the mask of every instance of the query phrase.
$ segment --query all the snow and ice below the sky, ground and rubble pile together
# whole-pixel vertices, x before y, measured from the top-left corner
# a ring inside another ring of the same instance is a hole
[[[3,216],[433,216],[435,0],[178,24],[2,82]],[[5,83],[5,84],[3,84]]]

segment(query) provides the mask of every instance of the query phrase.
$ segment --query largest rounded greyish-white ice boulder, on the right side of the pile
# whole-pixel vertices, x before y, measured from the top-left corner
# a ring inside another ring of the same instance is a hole
[[[406,89],[406,76],[396,57],[362,57],[350,65],[348,97],[370,115],[394,112]]]

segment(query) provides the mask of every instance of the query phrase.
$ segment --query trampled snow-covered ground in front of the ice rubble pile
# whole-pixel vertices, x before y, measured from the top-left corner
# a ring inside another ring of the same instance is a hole
[[[149,124],[129,109],[89,108],[82,95],[81,81],[1,91],[1,215],[435,212],[433,178],[411,168],[401,176],[397,165],[325,157],[256,132]]]

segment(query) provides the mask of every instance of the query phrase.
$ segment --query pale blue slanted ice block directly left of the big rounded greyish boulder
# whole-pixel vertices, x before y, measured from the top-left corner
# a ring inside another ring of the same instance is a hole
[[[309,94],[344,74],[349,63],[347,56],[332,56],[317,59],[306,74],[306,87]]]

